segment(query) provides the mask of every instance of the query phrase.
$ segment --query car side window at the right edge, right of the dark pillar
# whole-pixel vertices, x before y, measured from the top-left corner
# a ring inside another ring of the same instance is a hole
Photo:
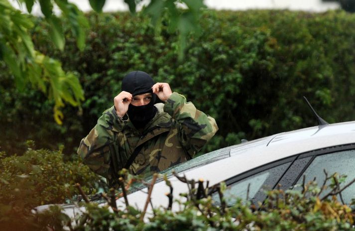
[[[340,175],[347,175],[346,181],[341,184],[341,187],[342,185],[345,186],[355,178],[355,150],[338,151],[316,156],[303,173],[305,182],[309,182],[316,177],[316,181],[321,187],[326,177],[324,169],[327,171],[328,176],[336,172]],[[297,184],[302,184],[302,181],[303,177],[300,177]],[[324,190],[320,196],[322,197],[328,192],[330,192],[329,188]],[[346,204],[350,204],[354,196],[355,184],[352,184],[342,192],[342,197]]]

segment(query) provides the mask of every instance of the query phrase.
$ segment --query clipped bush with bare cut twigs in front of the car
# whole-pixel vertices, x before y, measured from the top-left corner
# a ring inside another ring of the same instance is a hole
[[[71,231],[355,230],[354,211],[339,202],[336,194],[320,198],[322,189],[315,182],[302,184],[302,191],[269,191],[268,198],[258,205],[239,198],[234,205],[226,207],[223,204],[226,200],[223,195],[226,189],[224,184],[208,188],[204,186],[206,182],[201,180],[197,183],[184,177],[179,178],[190,184],[189,191],[182,195],[186,200],[177,199],[174,204],[154,208],[153,212],[146,213],[128,205],[117,207],[115,195],[114,203],[106,196],[108,204],[81,204],[86,207],[86,211],[74,218],[61,213],[59,207],[29,216],[27,221],[30,222],[27,222],[26,230],[46,227],[50,228],[49,230]],[[340,176],[337,174],[331,178],[340,182]],[[166,183],[171,187],[168,180]],[[198,184],[198,187],[193,188],[192,185],[195,184]],[[333,187],[333,192],[338,191],[339,186],[337,184]],[[154,185],[149,187],[153,189]],[[210,196],[215,190],[218,191],[219,200],[222,202],[218,206]],[[149,195],[149,203],[148,198]]]

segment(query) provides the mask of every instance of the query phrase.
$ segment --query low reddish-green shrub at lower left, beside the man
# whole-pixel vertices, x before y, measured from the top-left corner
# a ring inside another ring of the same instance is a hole
[[[21,156],[9,157],[0,152],[0,169],[1,230],[6,224],[15,226],[10,230],[24,230],[26,221],[33,222],[29,213],[34,207],[71,200],[78,194],[76,183],[87,194],[96,193],[100,181],[78,159],[64,162],[61,149],[29,148]]]

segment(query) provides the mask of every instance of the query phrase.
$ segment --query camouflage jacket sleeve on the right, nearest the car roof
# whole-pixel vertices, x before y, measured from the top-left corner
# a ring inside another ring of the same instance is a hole
[[[197,110],[186,98],[174,92],[164,105],[178,126],[178,138],[185,151],[193,157],[217,132],[216,120]]]

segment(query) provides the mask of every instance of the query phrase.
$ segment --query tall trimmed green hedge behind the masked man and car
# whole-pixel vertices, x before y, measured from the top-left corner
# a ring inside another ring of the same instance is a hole
[[[18,92],[0,66],[2,150],[21,153],[23,140],[33,139],[40,148],[63,143],[64,152],[73,153],[132,70],[169,82],[173,91],[216,118],[220,130],[203,151],[316,125],[303,96],[329,122],[355,119],[353,14],[208,10],[201,15],[201,33],[189,38],[182,62],[177,60],[178,37],[169,33],[166,20],[156,31],[140,15],[87,16],[91,27],[83,52],[69,31],[64,52],[56,50],[47,26],[34,19],[37,49],[75,71],[85,90],[80,110],[64,109],[63,126],[54,123],[53,102],[33,90]]]

